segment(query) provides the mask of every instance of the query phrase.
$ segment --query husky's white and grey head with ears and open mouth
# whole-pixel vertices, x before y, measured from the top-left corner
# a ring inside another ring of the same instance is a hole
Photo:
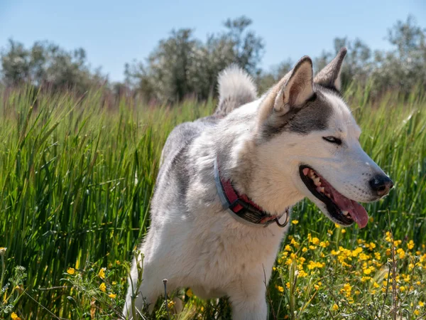
[[[359,144],[361,130],[339,93],[346,49],[314,78],[303,57],[263,98],[257,137],[270,171],[290,179],[295,198],[307,196],[339,225],[368,222],[358,202],[386,196],[391,179]]]

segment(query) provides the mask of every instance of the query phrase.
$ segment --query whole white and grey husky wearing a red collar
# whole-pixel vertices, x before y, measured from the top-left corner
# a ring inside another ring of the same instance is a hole
[[[340,95],[339,51],[315,78],[301,58],[266,94],[231,67],[219,75],[214,115],[175,127],[165,143],[140,249],[136,308],[191,287],[227,296],[233,319],[266,319],[266,283],[288,230],[289,208],[307,197],[334,223],[364,228],[366,210],[393,187],[363,151],[361,130]],[[133,262],[124,314],[132,319]],[[266,282],[266,283],[265,283]]]

